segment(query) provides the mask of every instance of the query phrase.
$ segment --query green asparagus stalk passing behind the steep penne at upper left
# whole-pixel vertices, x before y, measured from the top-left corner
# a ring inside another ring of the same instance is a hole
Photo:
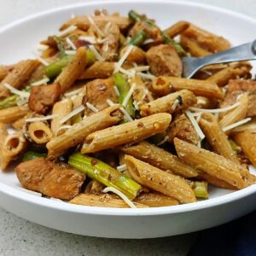
[[[55,78],[57,75],[61,73],[63,67],[66,67],[69,61],[73,59],[73,55],[65,55],[60,60],[55,61],[49,66],[45,67],[45,74],[49,79]],[[96,56],[90,50],[86,50],[86,66],[89,67],[96,61]]]

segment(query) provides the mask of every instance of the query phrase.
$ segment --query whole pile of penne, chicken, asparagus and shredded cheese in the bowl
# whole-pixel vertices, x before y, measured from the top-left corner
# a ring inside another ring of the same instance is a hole
[[[73,16],[36,59],[0,67],[3,172],[13,163],[26,191],[90,207],[175,206],[207,199],[208,184],[252,185],[250,63],[182,78],[183,56],[229,48],[188,21]]]

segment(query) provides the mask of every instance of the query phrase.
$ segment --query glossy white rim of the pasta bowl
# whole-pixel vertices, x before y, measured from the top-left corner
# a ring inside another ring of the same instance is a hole
[[[1,33],[8,31],[9,29],[20,25],[21,23],[26,23],[37,19],[39,17],[44,17],[47,15],[52,15],[63,10],[74,9],[79,7],[86,6],[97,6],[100,4],[127,4],[127,3],[149,3],[149,4],[176,4],[180,6],[191,6],[201,9],[213,10],[219,13],[236,16],[242,20],[247,20],[256,25],[256,19],[237,13],[236,11],[230,9],[223,9],[216,6],[212,6],[206,3],[191,3],[186,1],[168,1],[168,0],[123,0],[122,2],[118,0],[107,0],[107,1],[88,1],[86,3],[73,3],[68,4],[63,7],[48,9],[36,14],[27,15],[19,20],[15,20],[8,25],[2,26],[0,28],[0,37]],[[253,195],[256,193],[256,184],[251,185],[245,189],[234,191],[227,195],[221,195],[217,198],[212,198],[207,201],[197,201],[195,203],[171,206],[171,207],[150,207],[150,208],[109,208],[109,207],[87,207],[80,205],[68,204],[67,202],[61,201],[52,201],[47,198],[38,197],[36,195],[30,195],[22,190],[15,189],[9,186],[6,183],[0,181],[0,194],[5,195],[6,197],[13,197],[16,200],[23,201],[26,204],[36,205],[38,207],[46,207],[50,210],[58,210],[64,212],[73,212],[78,214],[88,214],[88,215],[109,215],[109,216],[156,216],[156,215],[166,215],[166,214],[176,214],[182,212],[194,212],[200,211],[208,207],[218,207],[226,203],[231,203],[233,201],[241,200],[242,198]]]

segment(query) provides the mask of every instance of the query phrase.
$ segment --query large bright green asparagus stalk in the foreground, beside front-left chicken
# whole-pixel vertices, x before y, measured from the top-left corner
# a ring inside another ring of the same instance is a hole
[[[69,157],[68,165],[84,172],[90,178],[97,180],[108,187],[119,189],[122,193],[133,200],[141,191],[142,187],[131,177],[121,174],[113,167],[108,166],[101,160],[90,156],[74,153]]]

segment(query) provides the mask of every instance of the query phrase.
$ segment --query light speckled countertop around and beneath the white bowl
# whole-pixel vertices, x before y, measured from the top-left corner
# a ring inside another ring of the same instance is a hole
[[[0,0],[0,26],[46,9],[84,1]],[[190,2],[211,3],[246,15],[256,16],[255,0],[190,0]],[[195,233],[151,240],[117,240],[77,236],[33,224],[0,208],[1,256],[186,255],[195,238]]]

